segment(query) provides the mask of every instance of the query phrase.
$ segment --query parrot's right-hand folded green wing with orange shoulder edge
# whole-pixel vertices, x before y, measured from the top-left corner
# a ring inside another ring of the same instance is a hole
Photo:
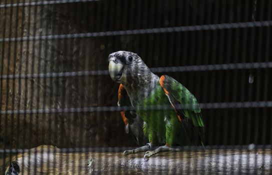
[[[189,139],[203,145],[204,123],[196,98],[186,87],[170,76],[162,75],[159,82]]]

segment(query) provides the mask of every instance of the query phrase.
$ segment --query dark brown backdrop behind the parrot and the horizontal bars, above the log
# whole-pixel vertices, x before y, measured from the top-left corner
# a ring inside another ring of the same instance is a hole
[[[32,0],[34,1],[34,0]],[[16,3],[1,0],[0,4]],[[23,2],[19,0],[18,2]],[[0,37],[271,20],[271,0],[99,0],[0,8]],[[0,74],[106,70],[117,50],[149,67],[271,61],[270,26],[0,42]],[[160,72],[198,102],[270,101],[271,68]],[[254,77],[253,83],[248,82]],[[1,110],[116,106],[109,75],[0,79]],[[208,145],[271,144],[271,107],[202,109]],[[2,114],[0,148],[135,146],[118,111]]]

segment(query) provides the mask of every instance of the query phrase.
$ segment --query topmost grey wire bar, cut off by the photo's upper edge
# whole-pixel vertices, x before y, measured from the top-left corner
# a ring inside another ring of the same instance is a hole
[[[60,4],[60,3],[91,2],[91,1],[101,1],[101,0],[45,0],[45,1],[38,1],[38,2],[7,3],[7,4],[0,4],[0,8],[16,7],[16,6],[52,5],[52,4]]]

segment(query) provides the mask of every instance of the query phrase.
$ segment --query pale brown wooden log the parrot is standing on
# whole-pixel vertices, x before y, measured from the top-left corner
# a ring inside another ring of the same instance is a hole
[[[12,157],[19,166],[19,174],[272,173],[270,149],[162,152],[147,161],[143,159],[144,152],[129,155],[122,152],[61,153],[53,147],[35,151],[31,149],[23,156],[19,153]]]

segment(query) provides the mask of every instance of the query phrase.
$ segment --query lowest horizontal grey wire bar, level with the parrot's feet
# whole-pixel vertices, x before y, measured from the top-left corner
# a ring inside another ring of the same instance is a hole
[[[202,150],[202,146],[173,146],[174,148],[179,148],[181,150]],[[75,147],[75,148],[50,148],[55,149],[56,152],[122,152],[124,150],[132,149],[135,147]],[[271,149],[272,146],[269,144],[264,145],[255,145],[255,144],[245,144],[245,145],[205,145],[206,150],[212,149]],[[44,150],[48,150],[47,147],[44,147]],[[20,152],[45,152],[42,149],[35,150],[31,149],[0,149],[0,153],[20,153]],[[50,151],[52,152],[52,151]]]

